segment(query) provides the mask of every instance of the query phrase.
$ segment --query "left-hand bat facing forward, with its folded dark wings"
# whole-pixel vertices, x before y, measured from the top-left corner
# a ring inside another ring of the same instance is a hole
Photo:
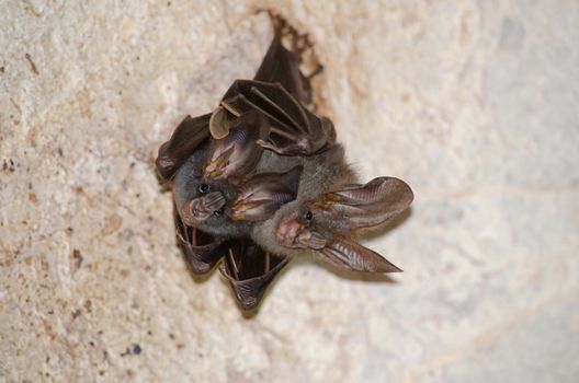
[[[156,160],[161,178],[173,183],[177,240],[190,269],[208,272],[225,256],[220,271],[245,310],[259,305],[288,263],[253,243],[251,222],[295,199],[302,172],[295,156],[281,167],[262,164],[271,156],[262,148],[314,155],[334,139],[331,123],[303,106],[309,82],[297,54],[281,43],[286,26],[276,22],[254,80],[236,81],[214,113],[188,116]],[[252,177],[257,170],[266,174]]]

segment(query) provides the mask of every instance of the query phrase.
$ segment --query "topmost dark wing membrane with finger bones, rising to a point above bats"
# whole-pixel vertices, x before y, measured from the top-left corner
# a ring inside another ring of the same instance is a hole
[[[283,23],[273,38],[253,80],[237,80],[213,113],[209,130],[214,138],[228,134],[231,119],[257,109],[272,125],[268,140],[259,143],[282,155],[311,155],[336,141],[333,124],[313,114],[311,86],[299,70],[299,56],[282,45]],[[295,31],[293,31],[295,33]]]

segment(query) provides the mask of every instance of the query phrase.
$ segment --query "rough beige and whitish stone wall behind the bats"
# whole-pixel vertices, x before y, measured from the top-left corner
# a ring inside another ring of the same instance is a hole
[[[310,34],[406,271],[284,272],[245,318],[194,281],[152,160]],[[577,1],[0,1],[0,381],[578,382]]]

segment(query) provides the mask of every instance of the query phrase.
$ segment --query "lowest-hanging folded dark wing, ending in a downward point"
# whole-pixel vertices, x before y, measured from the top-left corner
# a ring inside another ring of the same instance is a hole
[[[253,241],[237,241],[219,267],[243,310],[259,306],[268,287],[290,259],[265,252]]]

